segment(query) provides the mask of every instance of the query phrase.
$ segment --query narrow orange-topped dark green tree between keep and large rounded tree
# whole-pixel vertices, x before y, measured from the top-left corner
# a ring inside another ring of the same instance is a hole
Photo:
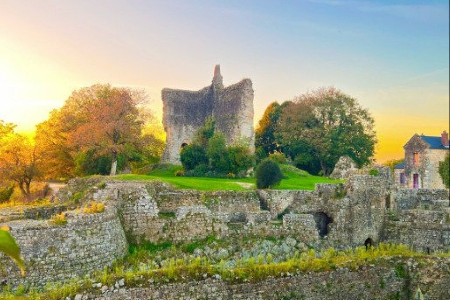
[[[258,127],[255,130],[255,147],[261,147],[266,154],[279,151],[279,145],[275,139],[275,128],[278,124],[278,119],[284,107],[287,107],[291,102],[284,102],[279,105],[273,102],[267,106],[259,120]]]

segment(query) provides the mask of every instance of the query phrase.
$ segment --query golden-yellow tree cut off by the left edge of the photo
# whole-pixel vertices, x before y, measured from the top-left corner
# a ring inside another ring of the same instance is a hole
[[[0,122],[0,179],[16,182],[22,194],[30,197],[31,182],[40,174],[40,158],[36,145],[14,128]]]

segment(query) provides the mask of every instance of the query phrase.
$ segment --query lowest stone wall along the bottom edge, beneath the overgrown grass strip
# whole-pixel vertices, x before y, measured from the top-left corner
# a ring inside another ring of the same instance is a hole
[[[121,289],[87,299],[405,299],[409,292],[405,278],[392,268],[363,266],[357,271],[331,272],[269,278],[260,282],[227,283],[206,279],[186,283],[151,284]],[[436,294],[448,294],[440,291]]]

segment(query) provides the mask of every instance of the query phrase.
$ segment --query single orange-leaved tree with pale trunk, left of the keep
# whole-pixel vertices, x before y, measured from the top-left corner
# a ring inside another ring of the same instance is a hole
[[[143,123],[138,105],[144,100],[142,92],[109,84],[73,92],[65,105],[77,108],[69,115],[77,124],[68,133],[68,142],[78,145],[80,150],[93,149],[99,155],[110,156],[110,175],[115,175],[117,157],[124,152],[125,145],[138,146]]]

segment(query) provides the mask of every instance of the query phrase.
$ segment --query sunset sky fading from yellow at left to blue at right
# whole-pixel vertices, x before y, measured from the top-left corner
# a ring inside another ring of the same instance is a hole
[[[449,5],[444,0],[0,0],[0,120],[21,132],[75,89],[161,89],[251,78],[255,123],[267,105],[323,86],[375,119],[376,159],[449,119]]]

